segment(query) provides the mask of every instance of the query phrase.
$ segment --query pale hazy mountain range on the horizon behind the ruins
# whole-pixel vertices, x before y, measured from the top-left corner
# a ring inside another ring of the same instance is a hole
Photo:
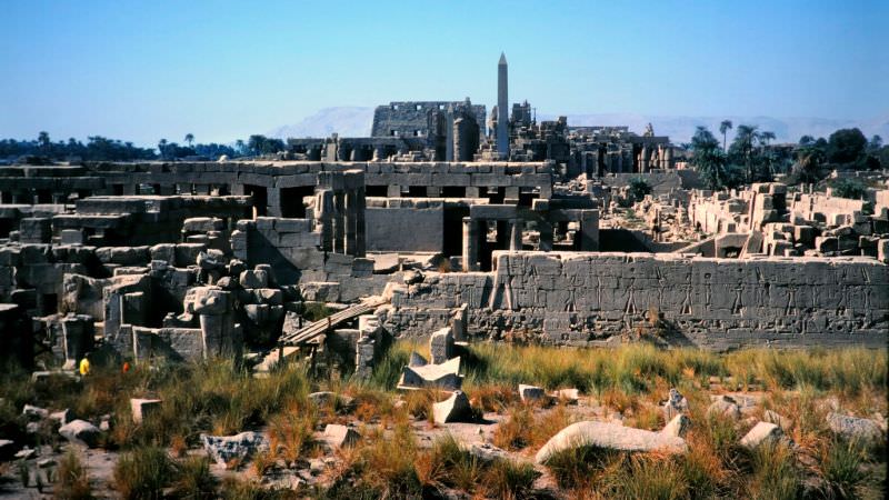
[[[538,120],[552,120],[556,114],[538,113]],[[646,116],[633,113],[570,114],[571,126],[628,126],[631,131],[642,133],[649,122],[658,136],[669,136],[673,143],[688,142],[698,126],[705,126],[720,136],[719,123],[731,120],[735,127],[745,124],[759,126],[760,130],[775,132],[778,142],[797,142],[802,136],[827,138],[837,129],[858,127],[870,138],[873,134],[889,141],[889,116],[872,120],[841,120],[829,118],[773,118],[773,117],[679,117]],[[269,136],[287,138],[329,137],[339,133],[341,137],[367,137],[373,122],[373,108],[339,107],[324,108],[317,113],[303,118],[300,122],[279,127]],[[729,131],[729,140],[732,132]]]

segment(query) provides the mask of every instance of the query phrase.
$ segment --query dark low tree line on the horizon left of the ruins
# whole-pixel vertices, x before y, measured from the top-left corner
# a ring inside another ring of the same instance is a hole
[[[233,144],[194,143],[194,136],[186,134],[183,144],[167,139],[158,141],[157,148],[141,148],[130,141],[109,139],[102,136],[89,137],[83,143],[74,138],[53,142],[48,132],[40,132],[37,139],[0,139],[0,160],[40,164],[51,161],[134,161],[134,160],[178,160],[184,158],[217,160],[229,158],[273,154],[287,148],[281,139],[261,134],[250,136]]]

